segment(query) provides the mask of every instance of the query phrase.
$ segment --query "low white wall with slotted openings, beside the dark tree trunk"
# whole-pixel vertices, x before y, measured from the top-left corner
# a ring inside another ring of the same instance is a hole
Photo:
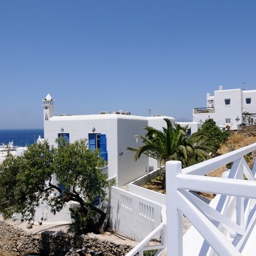
[[[136,241],[142,241],[160,225],[163,205],[112,187],[110,226]],[[160,234],[155,238],[159,238]]]

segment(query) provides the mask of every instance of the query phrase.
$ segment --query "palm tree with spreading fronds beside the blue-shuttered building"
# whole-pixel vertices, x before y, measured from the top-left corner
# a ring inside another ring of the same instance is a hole
[[[134,159],[137,161],[142,154],[150,156],[159,161],[160,166],[166,164],[169,160],[180,160],[183,167],[189,166],[189,157],[196,159],[196,162],[210,158],[209,148],[204,146],[205,137],[193,134],[188,137],[188,127],[181,127],[175,123],[174,127],[171,121],[164,118],[167,127],[163,130],[157,130],[146,126],[146,136],[135,135],[141,138],[143,146],[138,148],[127,147],[127,150],[135,151]]]

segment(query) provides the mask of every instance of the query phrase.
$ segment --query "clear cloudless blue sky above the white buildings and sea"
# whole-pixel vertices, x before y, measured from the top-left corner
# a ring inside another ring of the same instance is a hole
[[[2,0],[0,129],[43,127],[47,93],[56,114],[192,119],[219,85],[256,89],[255,12],[255,0]]]

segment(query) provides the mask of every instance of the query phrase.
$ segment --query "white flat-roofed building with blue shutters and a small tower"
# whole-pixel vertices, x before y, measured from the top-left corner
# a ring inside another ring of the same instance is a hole
[[[54,115],[54,101],[48,94],[43,100],[44,139],[56,146],[56,138],[64,137],[70,142],[87,139],[92,150],[101,148],[102,157],[108,162],[106,174],[116,176],[117,187],[121,187],[157,168],[156,160],[148,160],[142,155],[135,162],[134,152],[127,147],[142,146],[135,135],[144,135],[145,126],[162,129],[164,118],[174,123],[172,117],[140,117],[129,112],[101,112],[94,115]],[[150,163],[149,163],[150,162]]]

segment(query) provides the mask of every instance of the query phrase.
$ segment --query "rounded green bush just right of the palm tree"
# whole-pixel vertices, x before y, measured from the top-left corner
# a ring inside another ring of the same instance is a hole
[[[207,137],[207,140],[204,142],[205,147],[210,148],[214,155],[217,154],[221,144],[229,137],[229,132],[222,131],[213,119],[207,119],[197,133],[204,134]]]

